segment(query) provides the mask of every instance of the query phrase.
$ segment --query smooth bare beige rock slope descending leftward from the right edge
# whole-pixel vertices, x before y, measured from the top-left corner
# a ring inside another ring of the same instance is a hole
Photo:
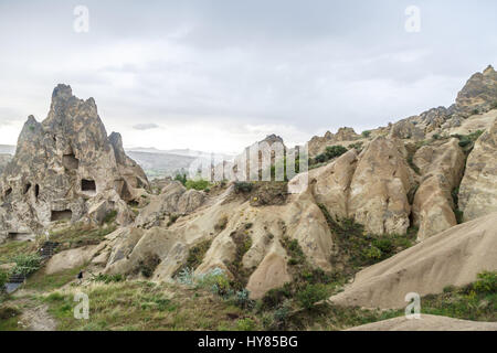
[[[497,213],[457,225],[356,275],[330,300],[343,306],[404,308],[409,292],[440,293],[484,270],[497,270]]]

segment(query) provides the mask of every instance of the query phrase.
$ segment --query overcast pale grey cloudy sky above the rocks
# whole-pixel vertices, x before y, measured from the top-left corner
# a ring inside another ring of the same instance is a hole
[[[494,0],[0,0],[0,145],[46,117],[57,83],[94,97],[127,147],[236,152],[272,132],[292,145],[384,126],[451,105],[497,64],[496,13]]]

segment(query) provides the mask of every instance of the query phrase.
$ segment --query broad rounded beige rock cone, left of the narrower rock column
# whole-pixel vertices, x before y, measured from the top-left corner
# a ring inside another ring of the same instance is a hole
[[[376,138],[359,156],[350,183],[348,214],[373,234],[405,234],[414,186],[406,151],[399,140]]]

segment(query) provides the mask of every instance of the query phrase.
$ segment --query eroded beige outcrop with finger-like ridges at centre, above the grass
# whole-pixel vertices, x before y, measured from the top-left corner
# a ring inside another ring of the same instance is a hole
[[[230,192],[224,193],[211,206],[180,217],[169,227],[121,231],[116,236],[105,271],[137,274],[146,258],[158,257],[160,264],[152,278],[170,279],[186,261],[189,249],[211,240],[195,272],[221,268],[229,276],[236,276],[230,264],[235,260],[240,242],[243,242],[250,244],[241,259],[241,266],[248,274],[246,286],[253,298],[260,298],[292,279],[284,238],[296,239],[311,265],[331,269],[331,234],[311,193],[292,195],[283,205],[264,207],[253,207],[250,201],[229,197]]]

